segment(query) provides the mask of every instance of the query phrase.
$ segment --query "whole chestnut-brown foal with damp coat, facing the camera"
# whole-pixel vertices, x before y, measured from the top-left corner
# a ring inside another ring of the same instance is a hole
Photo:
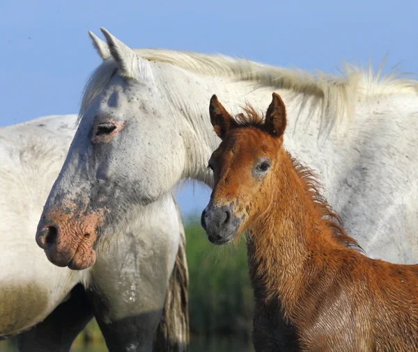
[[[202,225],[212,243],[248,232],[259,351],[418,351],[418,265],[370,259],[340,226],[311,172],[283,147],[286,111],[236,122],[214,96],[215,189]]]

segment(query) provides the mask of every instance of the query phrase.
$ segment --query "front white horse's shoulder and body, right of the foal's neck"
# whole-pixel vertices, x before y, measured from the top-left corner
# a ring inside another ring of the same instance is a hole
[[[417,108],[413,95],[371,97],[358,103],[351,125],[318,149],[306,147],[318,143],[315,123],[308,132],[291,122],[295,131],[285,137],[291,154],[319,170],[325,198],[367,255],[401,264],[416,262],[418,255],[418,158],[412,152],[418,148]],[[292,111],[291,121],[297,118]]]

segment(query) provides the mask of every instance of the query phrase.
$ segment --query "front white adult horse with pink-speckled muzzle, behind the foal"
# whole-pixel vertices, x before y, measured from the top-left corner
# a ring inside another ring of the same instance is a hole
[[[416,262],[417,81],[349,65],[342,77],[313,76],[225,56],[133,50],[102,33],[107,43],[91,33],[103,63],[86,86],[79,129],[38,225],[38,244],[53,263],[90,266],[99,237],[111,239],[131,209],[180,179],[211,186],[208,159],[219,143],[211,95],[229,111],[246,99],[262,110],[273,91],[288,106],[288,149],[319,170],[366,253]]]

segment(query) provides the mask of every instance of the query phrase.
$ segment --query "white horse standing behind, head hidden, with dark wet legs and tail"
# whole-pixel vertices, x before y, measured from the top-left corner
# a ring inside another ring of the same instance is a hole
[[[171,194],[137,209],[115,232],[123,239],[91,269],[54,266],[36,246],[76,119],[49,116],[0,129],[0,339],[20,333],[20,351],[69,351],[95,316],[109,351],[149,351],[167,292],[155,350],[185,351],[185,237]]]

